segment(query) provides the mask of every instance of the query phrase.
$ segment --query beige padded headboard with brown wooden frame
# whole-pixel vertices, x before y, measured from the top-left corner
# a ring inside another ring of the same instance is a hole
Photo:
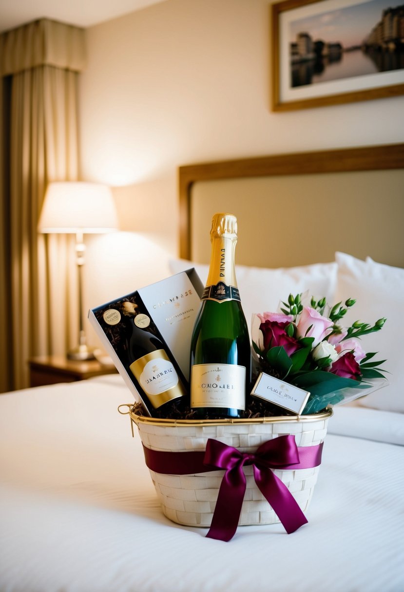
[[[179,168],[180,256],[207,263],[217,211],[238,218],[237,262],[288,267],[342,251],[404,267],[404,144]]]

